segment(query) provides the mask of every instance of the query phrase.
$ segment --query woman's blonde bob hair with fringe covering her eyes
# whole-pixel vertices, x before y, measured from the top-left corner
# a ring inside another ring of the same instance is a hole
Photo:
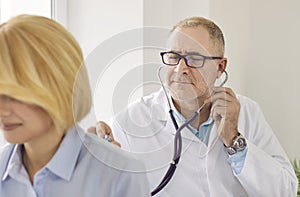
[[[60,24],[19,15],[0,25],[0,94],[43,108],[65,132],[91,108],[81,48]]]

